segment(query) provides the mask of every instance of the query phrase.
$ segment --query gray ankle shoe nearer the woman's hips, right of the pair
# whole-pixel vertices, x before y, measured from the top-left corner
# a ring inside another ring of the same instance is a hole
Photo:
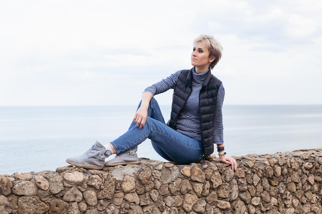
[[[128,150],[118,153],[115,158],[105,163],[105,166],[117,166],[127,164],[139,164],[139,159],[136,154],[137,146]]]

